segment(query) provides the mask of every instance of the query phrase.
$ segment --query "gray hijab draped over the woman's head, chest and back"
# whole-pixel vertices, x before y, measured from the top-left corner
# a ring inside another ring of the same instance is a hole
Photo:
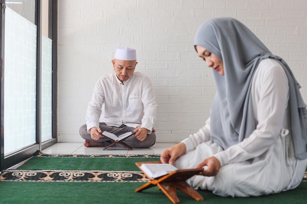
[[[252,80],[259,62],[271,58],[281,64],[288,77],[291,135],[296,157],[307,158],[306,105],[288,65],[273,55],[243,23],[232,18],[215,18],[203,23],[196,32],[194,45],[204,47],[224,63],[224,76],[213,70],[217,93],[210,113],[212,140],[227,149],[256,129]]]

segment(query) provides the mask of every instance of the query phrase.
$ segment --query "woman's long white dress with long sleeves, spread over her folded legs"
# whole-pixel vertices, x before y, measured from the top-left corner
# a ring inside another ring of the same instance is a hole
[[[197,133],[182,142],[186,154],[179,169],[194,168],[215,156],[221,162],[214,177],[194,176],[194,188],[231,197],[260,196],[297,187],[304,176],[307,159],[295,158],[290,135],[289,87],[283,68],[274,60],[259,63],[252,84],[256,130],[248,138],[223,151],[210,138],[210,118]]]

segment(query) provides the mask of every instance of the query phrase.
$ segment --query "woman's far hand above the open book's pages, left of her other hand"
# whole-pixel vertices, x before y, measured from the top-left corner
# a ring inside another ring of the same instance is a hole
[[[160,160],[162,163],[173,164],[177,158],[186,152],[185,144],[180,142],[172,147],[163,150]]]

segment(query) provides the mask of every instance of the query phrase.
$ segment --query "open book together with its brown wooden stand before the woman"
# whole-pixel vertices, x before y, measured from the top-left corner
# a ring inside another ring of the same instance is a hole
[[[180,203],[176,190],[180,190],[194,198],[196,201],[203,201],[204,198],[186,180],[197,175],[203,168],[197,169],[177,169],[171,164],[162,164],[160,161],[136,162],[136,166],[150,180],[135,192],[151,188],[155,185],[174,203]]]

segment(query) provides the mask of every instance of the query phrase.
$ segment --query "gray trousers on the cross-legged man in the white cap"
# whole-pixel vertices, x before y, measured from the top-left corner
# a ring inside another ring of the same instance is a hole
[[[107,126],[104,122],[102,122],[99,124],[99,126],[102,132],[107,131],[117,136],[127,133],[129,131],[134,131],[133,127],[128,127],[126,125],[121,125],[120,127],[114,127],[114,126]],[[106,137],[101,137],[98,140],[92,139],[91,134],[87,132],[86,124],[80,127],[79,134],[85,140],[91,142],[102,142],[103,146],[108,146],[109,144],[113,143],[111,140],[109,140]],[[147,135],[146,139],[144,139],[143,141],[136,139],[135,136],[130,136],[124,141],[132,148],[149,148],[153,146],[153,144],[155,143],[155,134],[152,132],[150,135]],[[114,144],[112,147],[124,147],[124,146],[121,144]]]

